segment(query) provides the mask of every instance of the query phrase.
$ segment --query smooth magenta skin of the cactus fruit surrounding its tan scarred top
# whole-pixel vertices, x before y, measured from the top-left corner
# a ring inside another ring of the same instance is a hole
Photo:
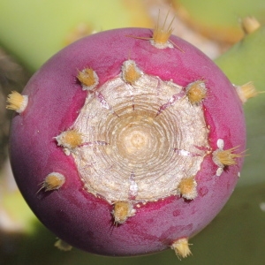
[[[202,102],[210,128],[208,143],[216,150],[223,139],[225,149],[246,148],[242,104],[231,82],[208,57],[191,44],[171,36],[184,50],[156,49],[148,40],[152,30],[124,28],[93,34],[59,51],[34,74],[22,95],[27,109],[11,123],[11,167],[19,189],[34,214],[58,238],[94,254],[139,255],[170,247],[173,241],[191,238],[201,231],[228,201],[238,181],[243,158],[226,168],[220,177],[207,155],[196,175],[198,196],[187,201],[180,196],[148,202],[135,216],[115,226],[112,206],[87,193],[72,155],[65,155],[54,139],[69,129],[79,115],[87,92],[77,81],[78,70],[92,67],[100,87],[117,77],[128,58],[143,72],[173,80],[181,86],[203,79],[208,96]],[[41,191],[40,183],[52,171],[65,176],[59,190]]]

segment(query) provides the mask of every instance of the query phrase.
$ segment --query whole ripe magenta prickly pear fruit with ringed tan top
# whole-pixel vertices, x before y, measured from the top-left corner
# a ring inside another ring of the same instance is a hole
[[[246,129],[235,87],[178,37],[157,46],[167,31],[158,29],[111,30],[61,50],[12,120],[11,165],[27,203],[88,252],[171,247],[186,257],[238,180]]]

